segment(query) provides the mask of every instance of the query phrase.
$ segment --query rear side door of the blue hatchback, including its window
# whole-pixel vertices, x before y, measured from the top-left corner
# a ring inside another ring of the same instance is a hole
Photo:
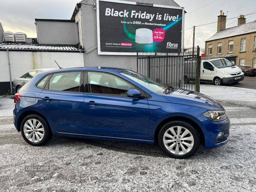
[[[55,131],[86,134],[83,79],[81,71],[54,73],[38,96],[44,115]]]

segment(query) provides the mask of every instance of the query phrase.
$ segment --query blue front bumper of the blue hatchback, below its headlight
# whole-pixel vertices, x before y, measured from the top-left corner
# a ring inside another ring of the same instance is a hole
[[[230,120],[227,119],[219,122],[211,122],[204,115],[197,117],[206,128],[204,132],[205,146],[204,148],[216,148],[226,144],[229,140]],[[217,139],[218,133],[224,131],[224,135]]]

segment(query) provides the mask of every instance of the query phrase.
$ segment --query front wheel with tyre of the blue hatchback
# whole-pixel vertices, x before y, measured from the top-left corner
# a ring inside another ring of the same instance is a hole
[[[198,150],[200,138],[198,132],[189,123],[172,121],[161,128],[158,143],[169,157],[185,159]]]

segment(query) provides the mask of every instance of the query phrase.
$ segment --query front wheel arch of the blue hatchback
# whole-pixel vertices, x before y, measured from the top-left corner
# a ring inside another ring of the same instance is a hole
[[[166,123],[171,122],[171,121],[183,121],[183,122],[187,122],[190,125],[192,125],[196,129],[196,131],[198,132],[198,135],[200,137],[200,143],[202,145],[205,145],[204,132],[201,129],[201,127],[198,125],[198,123],[196,123],[192,119],[189,119],[189,118],[184,117],[184,116],[172,116],[172,117],[164,119],[162,122],[160,122],[160,124],[157,126],[157,128],[155,130],[155,133],[154,133],[154,143],[158,143],[157,137],[158,137],[160,129],[163,127],[163,125],[165,125]]]

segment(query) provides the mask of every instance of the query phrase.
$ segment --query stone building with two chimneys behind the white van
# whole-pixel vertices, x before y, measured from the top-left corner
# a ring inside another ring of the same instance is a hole
[[[225,17],[218,16],[219,31],[206,41],[206,58],[224,57],[236,65],[256,67],[256,21],[245,23],[240,15],[238,26],[225,29]]]

